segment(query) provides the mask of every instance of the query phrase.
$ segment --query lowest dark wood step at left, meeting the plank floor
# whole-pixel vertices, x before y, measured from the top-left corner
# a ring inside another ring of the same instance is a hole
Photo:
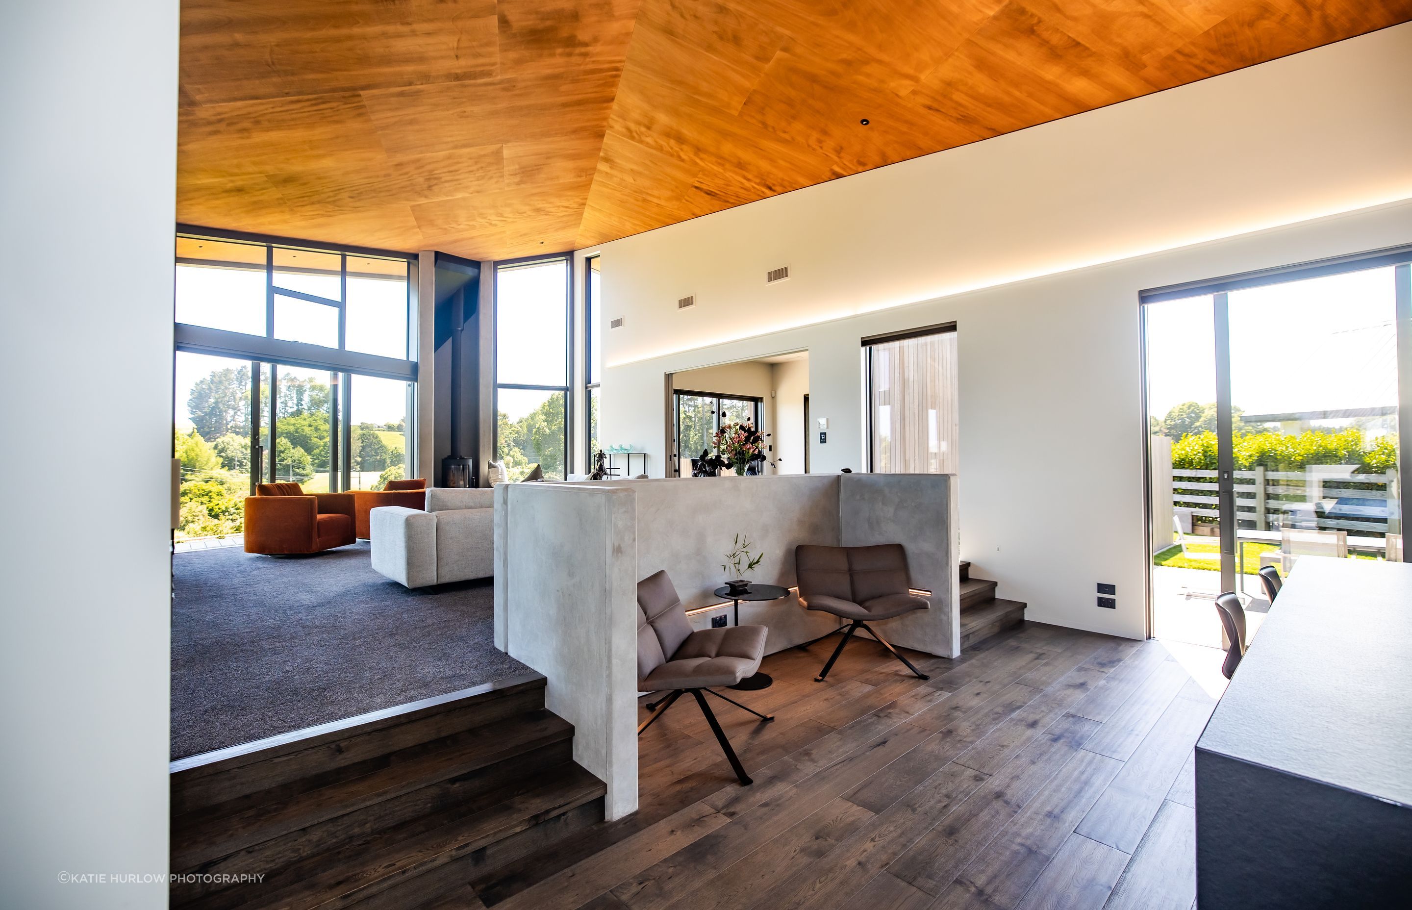
[[[607,787],[593,774],[568,762],[541,780],[548,783],[479,812],[443,811],[418,820],[414,829],[390,828],[313,856],[268,879],[260,893],[251,894],[247,886],[239,906],[402,910],[603,820]],[[201,910],[215,910],[217,903],[201,904]]]

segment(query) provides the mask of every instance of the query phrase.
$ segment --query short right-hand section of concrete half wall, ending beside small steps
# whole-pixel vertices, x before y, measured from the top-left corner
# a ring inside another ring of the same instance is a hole
[[[846,473],[839,478],[839,543],[902,544],[912,586],[932,609],[877,623],[892,644],[938,657],[960,647],[960,543],[956,475]]]

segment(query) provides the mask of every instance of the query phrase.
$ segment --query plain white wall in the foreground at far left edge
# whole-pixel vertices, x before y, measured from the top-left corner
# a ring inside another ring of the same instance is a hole
[[[0,906],[164,907],[178,4],[0,10]]]

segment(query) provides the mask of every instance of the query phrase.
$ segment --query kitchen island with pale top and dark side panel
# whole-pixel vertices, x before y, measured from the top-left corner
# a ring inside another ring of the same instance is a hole
[[[1196,743],[1202,910],[1412,893],[1412,564],[1300,557]]]

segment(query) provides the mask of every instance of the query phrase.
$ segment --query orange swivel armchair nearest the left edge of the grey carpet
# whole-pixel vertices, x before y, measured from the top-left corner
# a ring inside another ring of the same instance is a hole
[[[319,552],[352,544],[353,530],[353,493],[261,483],[246,497],[246,552]]]

